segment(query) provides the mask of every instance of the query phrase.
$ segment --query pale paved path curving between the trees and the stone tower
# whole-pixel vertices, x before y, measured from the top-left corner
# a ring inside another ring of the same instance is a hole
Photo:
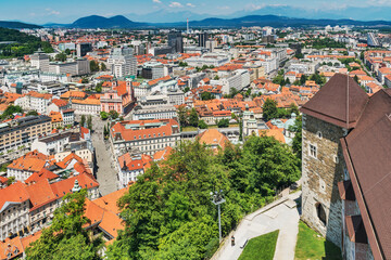
[[[263,211],[263,209],[260,209],[257,212],[247,216],[234,233],[236,245],[231,247],[230,239],[228,239],[222,246],[218,257],[214,258],[214,260],[237,260],[243,251],[240,249],[240,246],[243,245],[247,239],[275,230],[279,230],[280,232],[274,260],[293,260],[300,214],[297,208],[290,208],[287,205],[300,196],[301,192],[291,194],[288,196],[289,199],[286,203],[279,204],[263,213],[257,213]]]

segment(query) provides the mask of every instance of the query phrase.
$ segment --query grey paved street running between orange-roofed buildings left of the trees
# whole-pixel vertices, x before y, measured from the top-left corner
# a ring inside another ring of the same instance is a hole
[[[109,143],[103,141],[103,128],[108,121],[102,121],[98,117],[92,119],[92,144],[96,148],[97,159],[97,180],[100,184],[99,191],[102,196],[117,191],[117,173],[113,167],[112,153]]]

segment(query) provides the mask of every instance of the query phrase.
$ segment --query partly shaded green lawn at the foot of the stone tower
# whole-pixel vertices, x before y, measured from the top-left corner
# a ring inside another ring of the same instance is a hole
[[[338,246],[326,240],[304,222],[299,223],[295,260],[342,260]]]

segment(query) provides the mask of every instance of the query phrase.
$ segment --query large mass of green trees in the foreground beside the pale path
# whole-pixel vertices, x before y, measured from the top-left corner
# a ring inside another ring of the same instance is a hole
[[[250,136],[243,147],[213,153],[181,142],[160,165],[152,164],[119,199],[125,230],[109,259],[205,259],[218,246],[217,210],[210,193],[223,190],[222,230],[300,177],[299,159],[274,138]]]

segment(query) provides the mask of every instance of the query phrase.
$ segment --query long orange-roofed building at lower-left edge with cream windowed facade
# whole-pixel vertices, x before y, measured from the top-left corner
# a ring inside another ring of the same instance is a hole
[[[53,172],[46,170],[27,180],[28,184],[16,182],[0,190],[0,240],[46,227],[70,192],[87,188],[89,199],[99,197],[99,183],[91,174],[65,180],[53,177]]]

